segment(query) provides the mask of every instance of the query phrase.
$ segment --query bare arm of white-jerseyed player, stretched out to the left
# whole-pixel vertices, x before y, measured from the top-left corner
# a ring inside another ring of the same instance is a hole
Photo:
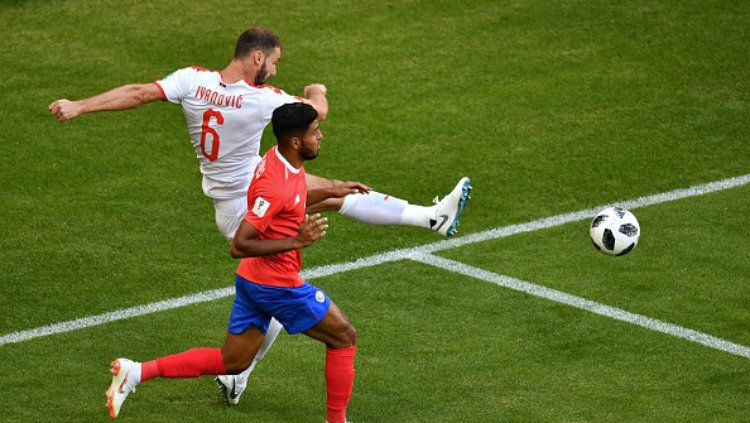
[[[155,84],[129,84],[78,101],[60,99],[49,105],[49,111],[60,122],[86,113],[127,110],[162,98]]]

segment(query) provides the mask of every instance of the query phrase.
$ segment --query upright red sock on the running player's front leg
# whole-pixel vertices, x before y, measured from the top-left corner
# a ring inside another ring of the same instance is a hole
[[[354,385],[354,356],[357,346],[341,350],[326,349],[326,391],[328,393],[326,420],[329,423],[346,422],[346,406]]]

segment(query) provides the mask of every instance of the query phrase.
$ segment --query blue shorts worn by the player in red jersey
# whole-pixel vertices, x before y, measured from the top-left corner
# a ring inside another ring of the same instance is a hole
[[[328,295],[307,282],[299,288],[280,288],[257,284],[237,275],[234,287],[229,332],[235,335],[251,326],[265,334],[271,317],[281,322],[290,335],[305,332],[323,320],[331,307]]]

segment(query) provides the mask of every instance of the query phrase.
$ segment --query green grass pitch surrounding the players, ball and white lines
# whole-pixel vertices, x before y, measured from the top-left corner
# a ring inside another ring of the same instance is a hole
[[[236,262],[171,104],[65,124],[47,105],[189,65],[237,35],[271,83],[327,85],[309,172],[429,204],[463,175],[459,236],[750,173],[750,3],[0,2],[0,336],[232,283]],[[264,140],[264,150],[271,145]],[[634,210],[628,256],[588,222],[442,257],[750,345],[750,187]],[[438,240],[331,215],[305,266]],[[358,329],[355,423],[743,422],[750,360],[413,261],[318,278]],[[0,421],[107,421],[112,359],[220,346],[231,299],[0,345]],[[282,335],[234,408],[157,380],[124,422],[321,422],[323,347]]]

